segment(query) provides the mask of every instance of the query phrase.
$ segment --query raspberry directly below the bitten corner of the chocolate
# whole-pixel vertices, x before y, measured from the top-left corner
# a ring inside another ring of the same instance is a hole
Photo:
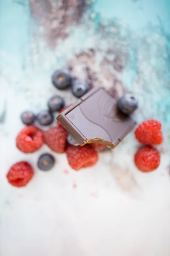
[[[76,171],[94,166],[98,161],[98,154],[91,145],[78,147],[69,145],[66,154],[69,165]]]

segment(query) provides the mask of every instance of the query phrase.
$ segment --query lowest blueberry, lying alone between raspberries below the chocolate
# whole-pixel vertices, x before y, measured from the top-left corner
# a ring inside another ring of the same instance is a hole
[[[54,157],[51,154],[42,154],[38,159],[38,167],[42,171],[49,171],[55,163]]]

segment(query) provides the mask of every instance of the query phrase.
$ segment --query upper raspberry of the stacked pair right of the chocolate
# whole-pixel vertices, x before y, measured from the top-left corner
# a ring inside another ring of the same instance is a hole
[[[163,141],[161,123],[154,119],[142,122],[135,131],[136,139],[146,145],[159,145]]]

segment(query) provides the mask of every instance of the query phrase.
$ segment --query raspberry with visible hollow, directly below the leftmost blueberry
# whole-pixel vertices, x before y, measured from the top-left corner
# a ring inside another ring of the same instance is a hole
[[[33,125],[23,128],[16,138],[17,148],[24,153],[33,153],[37,151],[42,144],[42,131]]]

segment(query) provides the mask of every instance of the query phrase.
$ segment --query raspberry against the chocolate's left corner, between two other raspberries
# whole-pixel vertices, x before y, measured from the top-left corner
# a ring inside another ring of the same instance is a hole
[[[52,127],[44,132],[44,142],[56,153],[65,152],[68,132],[62,127]]]

